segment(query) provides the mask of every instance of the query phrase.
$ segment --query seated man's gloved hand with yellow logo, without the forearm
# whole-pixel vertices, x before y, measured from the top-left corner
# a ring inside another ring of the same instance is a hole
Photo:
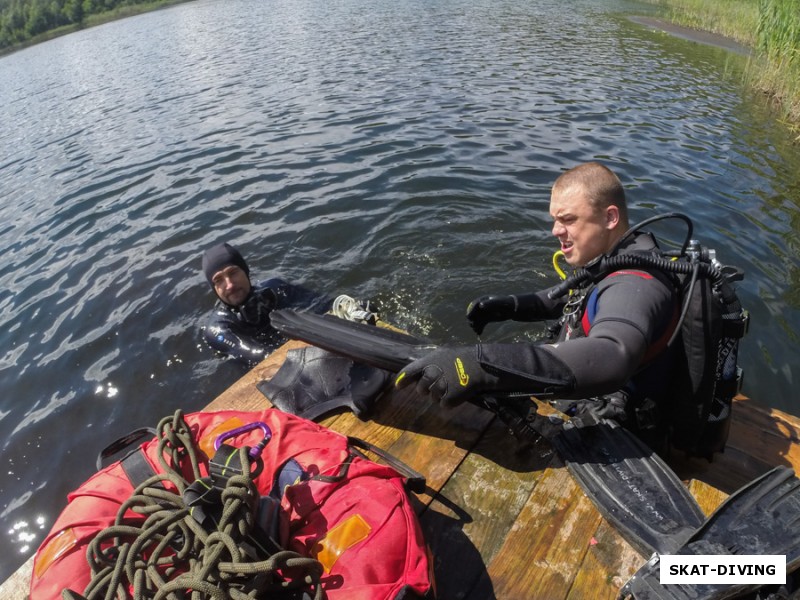
[[[395,386],[416,382],[416,392],[430,395],[444,406],[457,406],[491,389],[496,379],[483,370],[479,346],[439,348],[400,371]]]

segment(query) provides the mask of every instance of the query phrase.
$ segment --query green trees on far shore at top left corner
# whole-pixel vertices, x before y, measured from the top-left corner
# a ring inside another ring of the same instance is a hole
[[[0,50],[59,27],[81,27],[91,16],[153,0],[0,0]]]

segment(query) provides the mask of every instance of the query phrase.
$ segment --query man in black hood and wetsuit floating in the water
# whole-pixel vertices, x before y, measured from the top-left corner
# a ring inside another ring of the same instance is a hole
[[[217,295],[204,339],[214,350],[250,366],[286,341],[271,326],[270,312],[292,307],[324,313],[331,307],[326,297],[283,279],[252,285],[247,262],[230,244],[218,244],[203,254],[203,273]]]

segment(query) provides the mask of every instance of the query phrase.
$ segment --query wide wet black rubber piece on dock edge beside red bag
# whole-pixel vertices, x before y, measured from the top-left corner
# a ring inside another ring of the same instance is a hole
[[[341,408],[364,419],[389,378],[388,371],[308,346],[289,350],[274,377],[256,387],[279,410],[305,419]]]

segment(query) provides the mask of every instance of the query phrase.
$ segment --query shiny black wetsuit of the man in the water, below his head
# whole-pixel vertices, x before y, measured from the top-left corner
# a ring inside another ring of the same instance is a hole
[[[330,309],[331,301],[301,286],[273,278],[253,286],[240,307],[217,300],[203,327],[211,348],[253,366],[286,342],[270,324],[269,313],[278,308],[302,308],[317,313]]]

